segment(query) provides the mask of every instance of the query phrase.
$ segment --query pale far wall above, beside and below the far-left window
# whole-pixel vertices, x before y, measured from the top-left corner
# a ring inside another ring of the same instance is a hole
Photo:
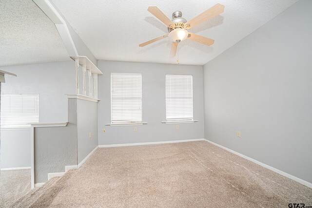
[[[75,94],[74,61],[1,67],[6,77],[1,94],[39,94],[39,121],[67,121],[67,97]],[[0,167],[30,166],[30,130],[1,130]]]

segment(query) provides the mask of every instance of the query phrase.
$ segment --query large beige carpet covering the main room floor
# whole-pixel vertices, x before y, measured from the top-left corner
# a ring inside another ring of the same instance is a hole
[[[312,206],[312,189],[208,142],[99,148],[14,207]]]

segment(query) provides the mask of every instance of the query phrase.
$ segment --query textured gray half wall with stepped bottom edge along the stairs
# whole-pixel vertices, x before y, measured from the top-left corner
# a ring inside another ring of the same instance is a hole
[[[68,99],[66,127],[35,128],[35,184],[46,182],[48,173],[65,172],[65,166],[78,165],[77,103],[76,98]]]

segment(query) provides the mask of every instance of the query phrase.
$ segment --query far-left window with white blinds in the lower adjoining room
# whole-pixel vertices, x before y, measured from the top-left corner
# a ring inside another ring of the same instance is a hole
[[[39,122],[38,94],[1,95],[1,129],[29,128]]]

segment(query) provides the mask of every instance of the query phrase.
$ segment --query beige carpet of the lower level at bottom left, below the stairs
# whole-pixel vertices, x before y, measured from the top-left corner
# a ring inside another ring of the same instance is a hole
[[[0,208],[9,207],[30,191],[30,169],[0,171]]]

